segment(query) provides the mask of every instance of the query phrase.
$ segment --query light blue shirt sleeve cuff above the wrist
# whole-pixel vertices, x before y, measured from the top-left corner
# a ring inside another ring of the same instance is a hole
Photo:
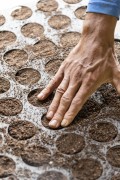
[[[120,16],[120,0],[89,0],[87,12]]]

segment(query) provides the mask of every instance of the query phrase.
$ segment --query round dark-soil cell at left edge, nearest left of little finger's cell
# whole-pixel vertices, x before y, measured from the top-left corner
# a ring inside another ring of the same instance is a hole
[[[22,111],[22,103],[15,98],[0,99],[0,114],[14,116]]]

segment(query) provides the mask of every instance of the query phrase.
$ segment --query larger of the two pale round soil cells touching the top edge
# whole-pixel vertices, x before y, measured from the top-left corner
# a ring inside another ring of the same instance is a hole
[[[58,8],[58,3],[55,0],[41,0],[37,3],[37,9],[44,12],[55,11]]]

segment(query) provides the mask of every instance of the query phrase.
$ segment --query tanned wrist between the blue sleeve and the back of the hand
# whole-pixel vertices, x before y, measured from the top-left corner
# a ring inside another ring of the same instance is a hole
[[[83,25],[81,40],[91,40],[92,43],[106,43],[107,46],[114,44],[114,31],[117,19],[113,16],[87,13]]]

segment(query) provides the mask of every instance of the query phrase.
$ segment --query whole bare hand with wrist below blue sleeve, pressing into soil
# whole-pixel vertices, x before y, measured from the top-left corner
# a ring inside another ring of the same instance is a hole
[[[113,16],[87,13],[81,40],[38,95],[44,100],[57,88],[47,113],[51,128],[68,126],[102,84],[111,83],[120,93],[120,65],[114,52],[116,22]]]

